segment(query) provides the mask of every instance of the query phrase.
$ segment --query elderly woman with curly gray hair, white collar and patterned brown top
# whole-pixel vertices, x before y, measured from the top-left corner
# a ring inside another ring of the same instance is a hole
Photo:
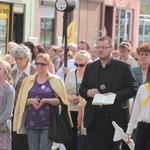
[[[16,45],[10,49],[10,54],[15,59],[15,64],[12,68],[11,75],[13,77],[15,88],[15,104],[18,98],[18,93],[25,77],[35,73],[35,67],[30,63],[30,49],[24,45]],[[17,135],[13,132],[12,135],[13,150],[28,150],[26,135]]]

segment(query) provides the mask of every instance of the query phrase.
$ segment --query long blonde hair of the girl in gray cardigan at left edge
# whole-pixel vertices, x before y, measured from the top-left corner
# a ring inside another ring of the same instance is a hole
[[[11,66],[6,60],[0,60],[0,63],[3,65],[3,68],[5,70],[6,74],[6,81],[8,81],[10,84],[13,84],[12,76],[10,75],[11,72]]]

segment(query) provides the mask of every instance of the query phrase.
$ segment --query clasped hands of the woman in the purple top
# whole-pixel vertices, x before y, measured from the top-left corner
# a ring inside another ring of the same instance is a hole
[[[42,105],[44,103],[47,102],[47,99],[46,98],[43,98],[43,99],[37,99],[37,98],[31,98],[31,104],[33,105],[33,107],[38,110],[40,107],[42,107]]]

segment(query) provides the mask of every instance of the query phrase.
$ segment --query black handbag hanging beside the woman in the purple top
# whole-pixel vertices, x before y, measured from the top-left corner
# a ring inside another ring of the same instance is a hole
[[[73,138],[68,106],[60,100],[59,106],[51,106],[52,118],[48,138],[56,143],[68,143]]]

